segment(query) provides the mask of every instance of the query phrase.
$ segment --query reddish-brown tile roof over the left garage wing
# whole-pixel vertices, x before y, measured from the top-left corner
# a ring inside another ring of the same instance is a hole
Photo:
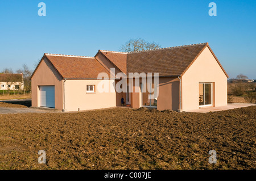
[[[110,77],[110,72],[105,69],[104,66],[102,66],[100,62],[98,62],[94,57],[68,56],[64,54],[46,53],[44,54],[44,57],[47,57],[49,62],[53,65],[53,68],[55,68],[63,78],[97,79],[98,74],[102,72],[107,73]]]

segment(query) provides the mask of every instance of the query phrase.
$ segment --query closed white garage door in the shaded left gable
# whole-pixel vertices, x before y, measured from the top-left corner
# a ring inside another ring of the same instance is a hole
[[[55,108],[54,86],[40,86],[40,106]]]

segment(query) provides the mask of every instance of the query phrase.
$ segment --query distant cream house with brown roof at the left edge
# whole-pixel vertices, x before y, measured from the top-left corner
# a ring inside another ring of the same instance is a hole
[[[23,74],[0,73],[0,90],[23,90]]]

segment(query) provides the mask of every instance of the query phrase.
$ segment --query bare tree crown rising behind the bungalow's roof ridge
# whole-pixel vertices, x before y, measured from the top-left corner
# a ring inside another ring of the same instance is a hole
[[[144,39],[130,39],[124,45],[121,46],[120,50],[122,52],[138,52],[140,50],[149,50],[149,49],[156,49],[161,48],[158,43],[147,42]]]

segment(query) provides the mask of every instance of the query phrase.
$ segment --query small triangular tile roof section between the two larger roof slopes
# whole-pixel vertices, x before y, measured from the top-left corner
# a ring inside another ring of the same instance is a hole
[[[114,64],[119,70],[126,74],[127,65],[127,53],[125,52],[113,52],[107,50],[99,50],[112,64]]]

